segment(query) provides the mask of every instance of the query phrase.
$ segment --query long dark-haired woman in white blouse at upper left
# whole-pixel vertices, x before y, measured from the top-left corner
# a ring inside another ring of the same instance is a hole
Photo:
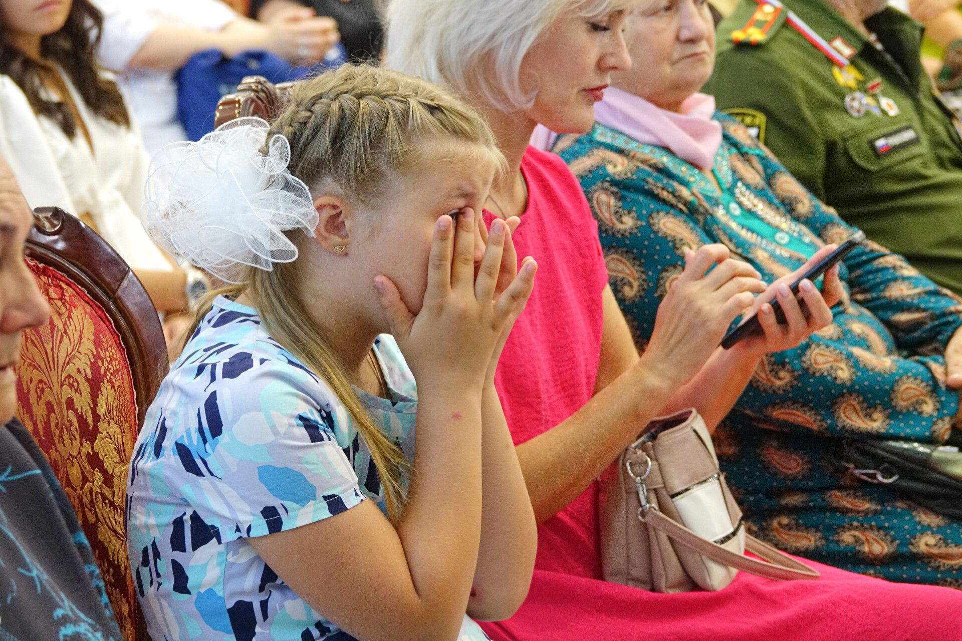
[[[139,225],[147,157],[94,60],[102,23],[89,0],[0,0],[0,156],[31,207],[80,217],[137,272],[155,307],[180,311],[189,285],[205,280],[177,268]]]

